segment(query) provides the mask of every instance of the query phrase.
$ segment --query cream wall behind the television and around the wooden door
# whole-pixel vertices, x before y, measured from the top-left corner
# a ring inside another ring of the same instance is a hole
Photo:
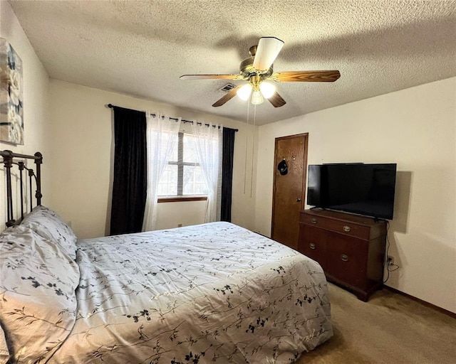
[[[259,127],[255,228],[271,232],[274,138],[309,133],[309,164],[397,163],[387,285],[456,312],[456,77]]]

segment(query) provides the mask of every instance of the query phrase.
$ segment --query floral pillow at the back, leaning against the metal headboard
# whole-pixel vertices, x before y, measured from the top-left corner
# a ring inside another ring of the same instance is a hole
[[[56,242],[62,249],[66,250],[73,260],[76,259],[76,240],[78,238],[55,211],[38,205],[26,215],[21,225],[31,228],[48,240]]]

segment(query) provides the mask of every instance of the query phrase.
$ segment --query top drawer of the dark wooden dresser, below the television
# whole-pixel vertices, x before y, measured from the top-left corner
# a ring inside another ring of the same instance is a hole
[[[364,240],[369,240],[371,235],[371,229],[368,226],[308,213],[301,213],[301,223]]]

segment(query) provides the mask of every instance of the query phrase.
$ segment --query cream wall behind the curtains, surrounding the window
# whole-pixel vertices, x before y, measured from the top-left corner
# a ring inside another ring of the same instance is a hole
[[[78,237],[102,236],[108,228],[113,155],[113,113],[105,106],[109,103],[239,129],[234,143],[232,221],[253,229],[254,194],[251,198],[250,188],[244,194],[246,138],[249,137],[250,149],[252,127],[231,119],[58,80],[51,80],[49,92],[52,100],[49,109],[52,153],[48,156],[52,193],[49,198],[53,208],[71,222]],[[248,186],[251,161],[252,157],[249,157]],[[204,223],[204,208],[205,201],[160,203],[157,228]]]

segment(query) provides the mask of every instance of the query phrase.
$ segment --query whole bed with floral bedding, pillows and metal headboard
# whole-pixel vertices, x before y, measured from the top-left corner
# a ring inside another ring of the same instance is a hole
[[[78,240],[41,200],[11,220],[0,363],[292,363],[333,334],[318,263],[237,225]]]

